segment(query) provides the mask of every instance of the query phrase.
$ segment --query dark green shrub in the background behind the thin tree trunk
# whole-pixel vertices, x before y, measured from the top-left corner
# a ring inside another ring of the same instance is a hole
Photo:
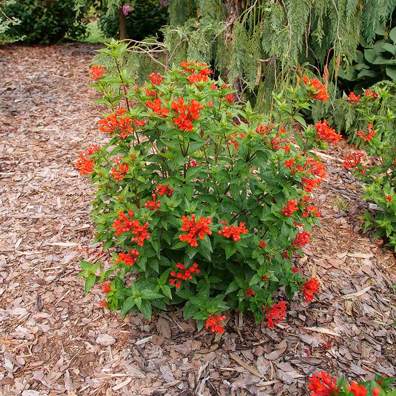
[[[143,40],[148,36],[155,36],[159,29],[168,23],[165,7],[158,0],[136,1],[133,10],[125,16],[128,38]],[[119,36],[118,14],[103,12],[99,25],[106,37]]]

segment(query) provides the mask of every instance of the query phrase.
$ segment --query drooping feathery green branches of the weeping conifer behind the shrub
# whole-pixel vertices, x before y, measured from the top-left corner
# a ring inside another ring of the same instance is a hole
[[[395,6],[396,0],[170,0],[168,62],[200,55],[255,97],[257,107],[267,107],[271,91],[303,73],[321,74],[326,84],[337,78],[360,37],[374,40]]]

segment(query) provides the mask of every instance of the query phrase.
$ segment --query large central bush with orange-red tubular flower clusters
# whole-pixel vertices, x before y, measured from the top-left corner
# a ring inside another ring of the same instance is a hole
[[[116,42],[101,50],[116,75],[99,65],[91,71],[110,106],[99,121],[109,142],[80,154],[76,166],[97,187],[96,241],[112,248],[114,264],[82,261],[85,291],[104,282],[101,305],[123,316],[140,310],[150,318],[152,308],[183,303],[184,317],[211,332],[224,332],[230,308],[274,326],[287,308],[281,293],[274,298],[280,288],[290,299],[301,291],[306,302],[319,289],[291,257],[319,224],[310,193],[326,174],[309,150],[339,137],[326,122],[325,133],[306,126],[298,113],[325,100],[324,87],[316,80],[275,96],[264,117],[236,104],[204,63],[182,62],[134,87],[125,50]],[[303,125],[298,148],[289,138],[294,120]]]

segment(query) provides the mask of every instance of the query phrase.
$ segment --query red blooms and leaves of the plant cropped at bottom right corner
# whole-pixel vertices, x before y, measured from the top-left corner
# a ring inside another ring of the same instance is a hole
[[[395,380],[376,375],[372,381],[352,381],[349,385],[344,378],[332,378],[321,371],[308,379],[308,389],[310,396],[395,396],[396,391],[392,391],[391,388]]]

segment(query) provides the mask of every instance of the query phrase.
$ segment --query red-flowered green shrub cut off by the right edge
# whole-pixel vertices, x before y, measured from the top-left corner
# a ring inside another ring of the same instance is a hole
[[[377,228],[375,237],[389,238],[389,245],[396,249],[395,107],[388,108],[385,114],[377,112],[387,95],[384,90],[366,90],[363,96],[349,94],[348,100],[360,113],[361,128],[355,131],[360,149],[347,155],[344,166],[363,182],[365,198],[377,205],[365,213],[364,229]]]

